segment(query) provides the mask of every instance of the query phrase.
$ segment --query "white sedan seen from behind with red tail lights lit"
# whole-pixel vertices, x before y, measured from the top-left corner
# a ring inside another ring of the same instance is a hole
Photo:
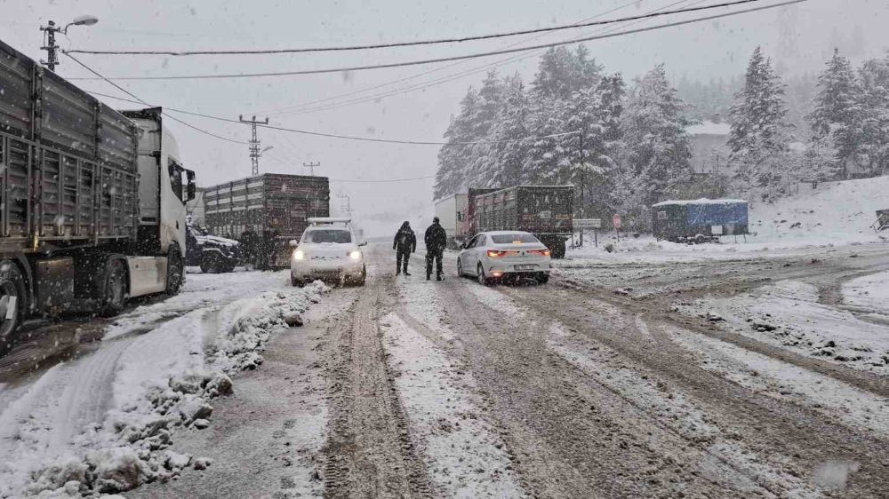
[[[481,284],[532,278],[549,281],[550,249],[533,234],[491,231],[476,234],[457,256],[457,274],[474,276]]]

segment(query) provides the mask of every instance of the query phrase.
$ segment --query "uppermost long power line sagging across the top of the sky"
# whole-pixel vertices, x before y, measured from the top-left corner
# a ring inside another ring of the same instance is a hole
[[[71,53],[101,54],[101,55],[172,55],[172,56],[192,56],[192,55],[257,55],[257,54],[277,54],[277,53],[306,53],[306,52],[326,52],[326,51],[361,51],[372,49],[389,49],[395,47],[412,47],[418,45],[433,44],[454,44],[462,42],[472,42],[477,40],[490,40],[493,38],[504,38],[507,36],[532,35],[536,33],[549,33],[553,31],[561,31],[573,28],[589,28],[590,26],[601,26],[605,24],[613,24],[616,22],[624,22],[628,20],[645,20],[655,17],[666,16],[671,14],[680,14],[685,12],[706,11],[719,7],[733,7],[741,4],[752,4],[761,0],[735,0],[733,2],[725,2],[722,4],[704,5],[701,7],[690,7],[686,9],[677,9],[674,11],[655,12],[648,14],[640,14],[636,16],[628,16],[613,20],[597,20],[589,22],[581,22],[574,24],[566,24],[561,26],[552,26],[549,28],[523,29],[519,31],[508,31],[504,33],[493,33],[490,35],[478,36],[461,36],[453,38],[438,38],[433,40],[419,40],[413,42],[392,42],[388,44],[365,44],[365,45],[347,45],[340,47],[310,47],[299,49],[265,49],[265,50],[238,50],[238,51],[96,51],[96,50],[73,50]]]

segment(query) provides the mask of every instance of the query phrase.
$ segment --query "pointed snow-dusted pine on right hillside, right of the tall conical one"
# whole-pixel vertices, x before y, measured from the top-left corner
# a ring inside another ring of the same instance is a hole
[[[806,118],[812,125],[813,142],[827,139],[833,143],[840,173],[843,178],[848,178],[848,166],[858,162],[861,154],[863,93],[852,64],[849,59],[840,56],[837,49],[827,67],[818,75],[815,108]],[[818,144],[818,147],[824,149],[822,144]],[[833,163],[825,165],[826,170],[833,170],[836,167]]]

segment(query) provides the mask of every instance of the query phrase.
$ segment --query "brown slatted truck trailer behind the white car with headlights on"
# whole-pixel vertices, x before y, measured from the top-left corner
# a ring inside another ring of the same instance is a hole
[[[326,177],[263,173],[204,190],[204,224],[210,234],[243,241],[249,229],[260,248],[244,241],[244,252],[273,268],[290,267],[288,242],[300,239],[309,217],[329,216]],[[268,247],[267,255],[263,249]]]

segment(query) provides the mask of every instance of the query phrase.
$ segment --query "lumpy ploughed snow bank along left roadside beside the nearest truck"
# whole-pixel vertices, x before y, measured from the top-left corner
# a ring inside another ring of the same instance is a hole
[[[257,366],[268,338],[300,324],[325,289],[197,308],[50,369],[0,412],[0,496],[116,493],[209,465],[168,450],[172,429],[209,424],[228,376]]]

